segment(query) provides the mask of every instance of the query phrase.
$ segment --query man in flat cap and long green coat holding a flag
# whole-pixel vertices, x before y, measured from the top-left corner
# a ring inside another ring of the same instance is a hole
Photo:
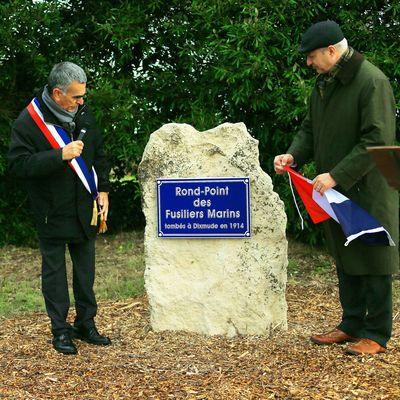
[[[347,45],[338,24],[323,21],[303,35],[300,51],[318,73],[307,116],[287,151],[275,157],[278,174],[285,165],[314,159],[314,189],[336,190],[375,217],[398,243],[399,199],[380,174],[366,147],[392,145],[395,102],[387,77]],[[386,350],[392,331],[392,274],[398,271],[398,247],[367,246],[359,239],[345,247],[335,221],[324,223],[335,259],[343,309],[340,324],[314,335],[316,344],[351,342],[349,354]]]

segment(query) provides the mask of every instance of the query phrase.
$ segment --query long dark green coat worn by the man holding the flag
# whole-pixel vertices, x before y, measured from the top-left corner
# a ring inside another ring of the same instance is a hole
[[[322,79],[320,77],[319,79]],[[387,77],[354,51],[323,91],[317,85],[307,116],[288,153],[298,166],[310,159],[318,174],[329,172],[336,190],[375,217],[396,247],[367,246],[359,239],[344,246],[335,221],[324,223],[328,249],[349,275],[386,275],[399,267],[399,198],[376,168],[366,147],[393,145],[395,101]]]

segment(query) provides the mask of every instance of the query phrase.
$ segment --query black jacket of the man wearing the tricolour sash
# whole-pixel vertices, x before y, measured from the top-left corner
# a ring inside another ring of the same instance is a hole
[[[60,121],[37,96],[46,122]],[[75,117],[76,128],[70,132],[76,139],[83,127],[82,157],[87,168],[94,166],[98,191],[109,192],[109,164],[103,150],[102,134],[87,106],[80,106]],[[81,241],[93,238],[96,228],[90,225],[93,198],[82,182],[62,160],[61,149],[53,149],[27,109],[12,126],[8,153],[10,173],[23,180],[36,220],[39,238],[45,240]]]

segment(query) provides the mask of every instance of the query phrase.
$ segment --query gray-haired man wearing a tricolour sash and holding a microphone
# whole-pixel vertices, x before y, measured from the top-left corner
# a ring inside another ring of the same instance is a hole
[[[103,139],[84,105],[86,74],[71,62],[56,64],[48,84],[12,126],[11,174],[24,181],[36,220],[42,255],[42,292],[51,320],[53,347],[76,354],[72,341],[108,345],[98,333],[93,291],[97,214],[108,213],[109,165]],[[74,328],[65,265],[73,264]]]

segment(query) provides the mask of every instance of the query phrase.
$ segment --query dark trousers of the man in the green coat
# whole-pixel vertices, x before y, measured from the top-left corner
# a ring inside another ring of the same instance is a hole
[[[340,330],[386,347],[392,334],[392,275],[348,275],[337,268]]]

